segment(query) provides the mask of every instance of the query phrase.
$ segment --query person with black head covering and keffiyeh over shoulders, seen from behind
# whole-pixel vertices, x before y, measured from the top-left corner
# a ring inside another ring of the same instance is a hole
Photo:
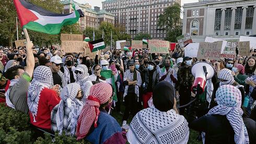
[[[188,122],[179,115],[174,88],[169,82],[161,81],[156,85],[153,103],[154,106],[134,116],[127,140],[130,143],[187,143]]]

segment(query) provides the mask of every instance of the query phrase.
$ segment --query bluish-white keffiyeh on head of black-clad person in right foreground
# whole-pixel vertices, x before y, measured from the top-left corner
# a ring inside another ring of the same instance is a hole
[[[226,115],[235,132],[236,143],[249,143],[249,137],[245,123],[243,123],[241,109],[241,92],[231,85],[220,86],[216,91],[217,106],[208,112],[208,115]],[[205,135],[205,133],[203,134]]]

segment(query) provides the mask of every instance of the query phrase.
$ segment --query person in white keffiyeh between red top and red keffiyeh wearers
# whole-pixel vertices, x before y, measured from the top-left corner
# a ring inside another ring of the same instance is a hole
[[[78,83],[69,83],[61,91],[61,101],[51,112],[51,129],[59,131],[61,135],[74,135],[78,116],[83,108],[83,103],[76,97],[82,94]]]

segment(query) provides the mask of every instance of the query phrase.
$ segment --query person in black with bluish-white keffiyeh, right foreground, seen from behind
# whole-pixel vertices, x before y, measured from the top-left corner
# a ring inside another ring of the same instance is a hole
[[[220,86],[216,92],[217,106],[207,115],[189,123],[190,128],[203,131],[205,143],[249,143],[243,123],[241,92],[231,85]]]

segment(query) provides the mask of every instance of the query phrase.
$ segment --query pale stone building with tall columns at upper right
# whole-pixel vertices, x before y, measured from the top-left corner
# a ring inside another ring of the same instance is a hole
[[[199,0],[184,4],[182,33],[193,42],[205,37],[224,40],[256,34],[256,0]]]

